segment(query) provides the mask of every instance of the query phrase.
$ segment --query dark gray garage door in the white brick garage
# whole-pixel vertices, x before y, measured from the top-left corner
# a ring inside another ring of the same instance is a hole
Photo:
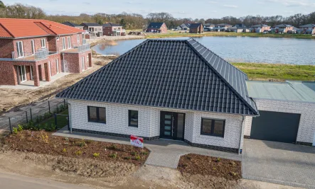
[[[295,143],[300,114],[260,110],[260,117],[252,119],[251,139]]]

